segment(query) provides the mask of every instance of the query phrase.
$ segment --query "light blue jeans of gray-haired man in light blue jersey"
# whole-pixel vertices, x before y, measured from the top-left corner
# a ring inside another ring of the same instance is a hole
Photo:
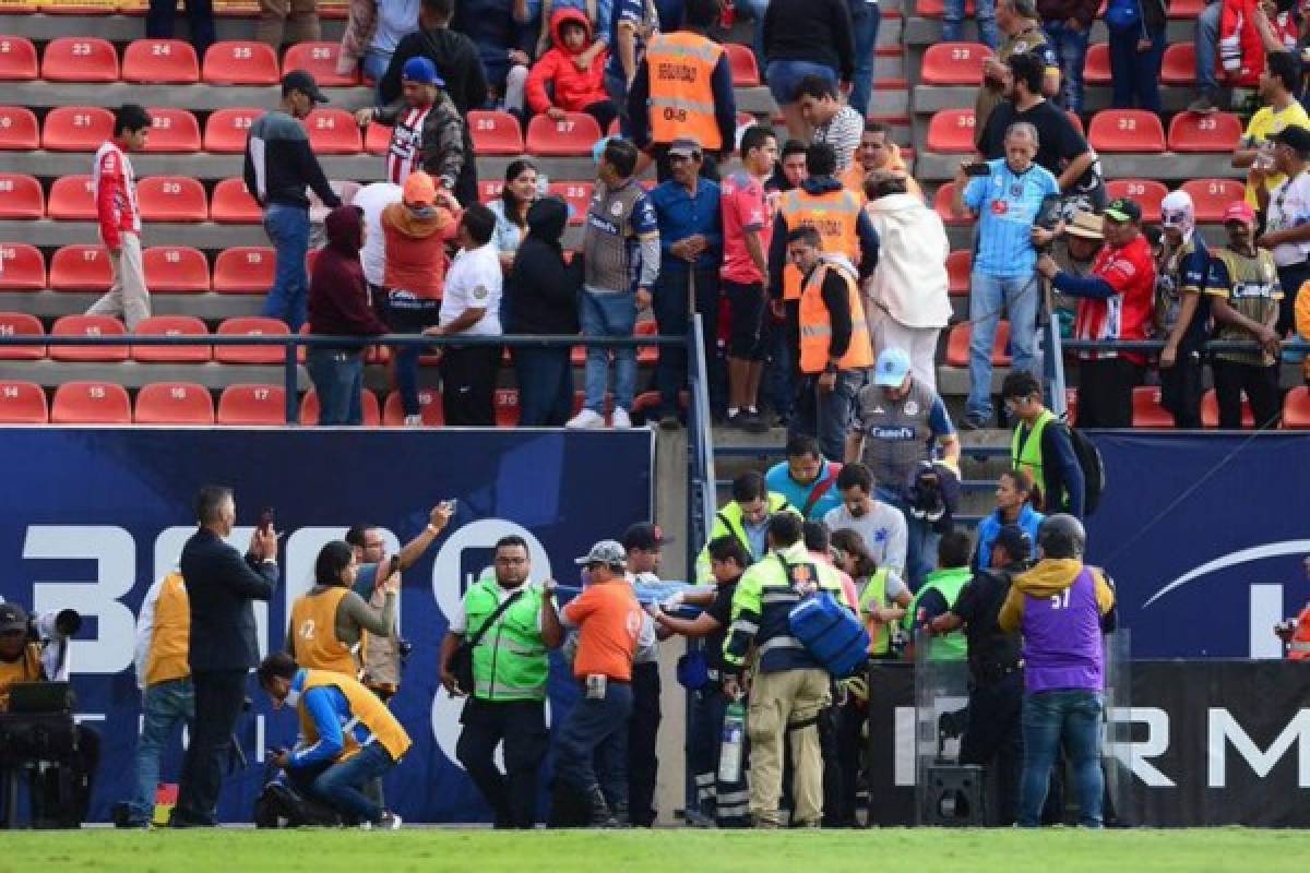
[[[992,346],[996,343],[996,326],[1001,312],[1010,317],[1010,349],[1014,368],[1041,374],[1036,365],[1038,349],[1038,301],[1041,298],[1041,283],[1036,274],[1030,276],[1001,277],[975,272],[971,277],[969,321],[973,322],[969,336],[969,399],[964,404],[965,415],[989,421],[992,419]]]

